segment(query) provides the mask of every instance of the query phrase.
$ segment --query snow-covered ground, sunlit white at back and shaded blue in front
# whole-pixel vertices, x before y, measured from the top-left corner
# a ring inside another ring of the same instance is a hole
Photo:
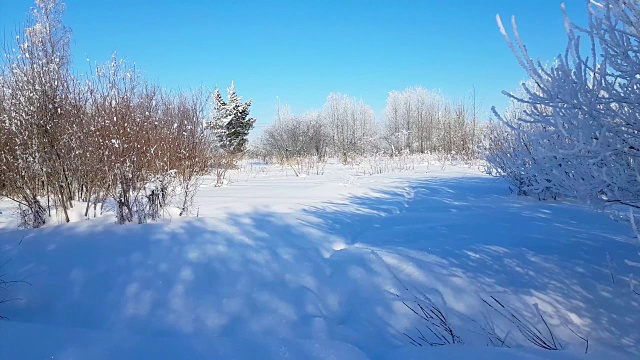
[[[640,356],[628,223],[475,167],[411,168],[249,164],[225,187],[205,179],[197,217],[145,225],[17,230],[0,201],[0,273],[29,282],[0,290],[21,299],[0,305],[0,359],[582,358],[573,332],[587,357]],[[410,343],[428,335],[401,302],[416,295],[464,345]],[[543,330],[537,304],[565,351],[524,341],[490,296]],[[487,346],[487,322],[511,348]]]

